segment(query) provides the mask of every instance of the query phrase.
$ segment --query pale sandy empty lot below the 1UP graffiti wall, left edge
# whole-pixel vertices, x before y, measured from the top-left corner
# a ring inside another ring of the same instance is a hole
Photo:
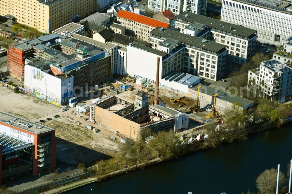
[[[0,85],[0,110],[32,120],[61,109],[36,96],[16,94],[12,89]]]

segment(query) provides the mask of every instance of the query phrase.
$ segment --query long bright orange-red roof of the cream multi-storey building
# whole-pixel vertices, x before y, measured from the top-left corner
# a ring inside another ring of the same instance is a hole
[[[167,28],[169,26],[168,23],[161,22],[161,21],[155,20],[151,17],[146,17],[144,15],[132,13],[132,12],[125,11],[125,10],[119,10],[117,16],[128,19],[128,20],[133,20],[135,22],[139,22],[142,24],[146,24],[148,26],[152,26],[155,28],[157,28],[157,27]]]

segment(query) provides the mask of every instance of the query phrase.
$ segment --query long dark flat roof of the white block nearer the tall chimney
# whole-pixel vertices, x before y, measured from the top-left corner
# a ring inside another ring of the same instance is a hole
[[[171,38],[174,40],[180,41],[180,43],[186,44],[186,45],[192,45],[196,48],[199,49],[204,49],[204,50],[210,50],[213,52],[219,52],[221,50],[225,50],[226,45],[222,45],[219,43],[215,43],[213,41],[207,41],[205,43],[202,42],[202,38],[195,37],[195,36],[190,36],[184,33],[180,33],[178,31],[174,31],[171,29],[164,29],[163,31],[160,31],[161,27],[158,27],[150,32],[150,36],[155,37],[159,39],[167,39]],[[161,38],[163,37],[163,38]]]

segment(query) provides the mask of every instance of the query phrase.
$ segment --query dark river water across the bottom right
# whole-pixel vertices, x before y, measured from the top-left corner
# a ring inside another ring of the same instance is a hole
[[[68,193],[187,194],[191,191],[194,194],[240,194],[248,189],[257,192],[256,178],[265,169],[277,168],[280,164],[281,170],[286,173],[292,158],[291,128],[292,125],[288,124],[249,135],[245,142],[198,151]]]

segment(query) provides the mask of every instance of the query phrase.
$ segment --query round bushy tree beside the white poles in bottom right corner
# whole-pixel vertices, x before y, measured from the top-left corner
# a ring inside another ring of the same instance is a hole
[[[278,170],[275,168],[267,169],[262,172],[256,179],[256,186],[260,194],[274,194],[277,187]],[[280,172],[279,188],[285,183],[285,176]]]

